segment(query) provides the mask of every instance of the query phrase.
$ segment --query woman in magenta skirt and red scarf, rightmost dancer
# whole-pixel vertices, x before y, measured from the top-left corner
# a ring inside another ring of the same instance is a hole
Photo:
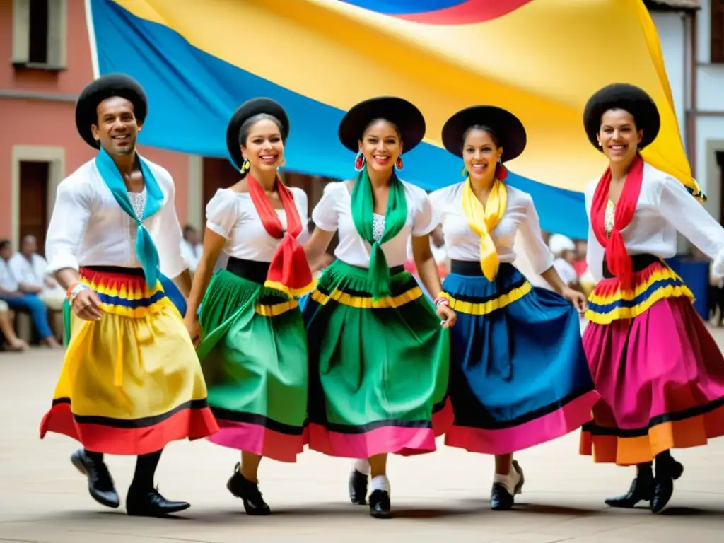
[[[637,466],[631,489],[608,505],[647,501],[658,513],[683,473],[669,450],[724,434],[724,358],[664,258],[675,256],[678,230],[723,277],[724,229],[694,198],[702,195],[696,184],[692,195],[639,154],[660,128],[644,90],[602,88],[586,104],[584,127],[609,165],[585,191],[586,260],[598,283],[584,348],[601,400],[584,426],[581,452],[595,462]]]

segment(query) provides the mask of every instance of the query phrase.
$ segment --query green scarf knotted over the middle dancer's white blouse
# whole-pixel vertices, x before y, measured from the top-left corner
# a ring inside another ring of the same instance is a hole
[[[363,168],[352,189],[352,219],[357,232],[372,245],[369,257],[369,279],[372,283],[372,300],[392,295],[390,292],[390,266],[382,252],[382,243],[387,243],[400,233],[407,221],[407,198],[403,182],[397,179],[395,172],[390,177],[390,196],[384,211],[384,235],[379,242],[372,235],[374,201],[372,185],[367,168]]]

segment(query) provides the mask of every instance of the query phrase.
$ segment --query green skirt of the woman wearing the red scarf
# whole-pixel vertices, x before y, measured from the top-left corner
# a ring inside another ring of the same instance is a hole
[[[306,443],[307,341],[297,300],[230,271],[201,304],[198,346],[219,432],[209,441],[281,462]]]

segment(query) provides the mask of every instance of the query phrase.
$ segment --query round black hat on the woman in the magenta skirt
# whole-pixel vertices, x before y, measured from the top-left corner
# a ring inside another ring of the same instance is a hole
[[[636,129],[644,131],[639,148],[650,145],[659,135],[661,117],[653,98],[636,85],[613,83],[591,96],[584,108],[586,135],[592,146],[599,151],[603,151],[597,139],[597,134],[601,130],[601,117],[610,109],[623,109],[633,116]]]

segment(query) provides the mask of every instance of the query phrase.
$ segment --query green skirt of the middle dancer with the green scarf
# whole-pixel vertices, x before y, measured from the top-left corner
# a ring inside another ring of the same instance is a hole
[[[366,269],[335,261],[311,293],[309,447],[369,458],[435,450],[452,424],[447,329],[407,271],[373,303]]]

